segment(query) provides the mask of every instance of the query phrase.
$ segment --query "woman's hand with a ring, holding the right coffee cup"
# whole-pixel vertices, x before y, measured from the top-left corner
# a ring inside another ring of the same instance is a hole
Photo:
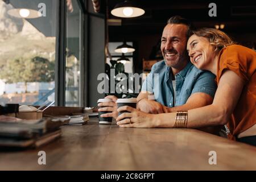
[[[155,115],[144,113],[130,106],[119,107],[118,112],[128,111],[130,113],[122,113],[117,117],[117,125],[119,127],[156,127]]]

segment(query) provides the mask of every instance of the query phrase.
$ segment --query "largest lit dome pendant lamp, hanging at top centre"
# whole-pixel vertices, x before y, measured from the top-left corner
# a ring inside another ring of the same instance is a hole
[[[111,14],[121,18],[133,18],[141,16],[145,13],[143,9],[134,5],[131,1],[125,1],[115,5],[114,9],[111,11]]]

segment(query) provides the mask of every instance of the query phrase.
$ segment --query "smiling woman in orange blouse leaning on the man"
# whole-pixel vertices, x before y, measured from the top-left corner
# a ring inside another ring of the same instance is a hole
[[[120,127],[207,127],[225,125],[228,138],[256,146],[256,52],[238,46],[213,28],[194,31],[187,43],[191,62],[216,75],[211,105],[179,113],[147,114],[129,106]]]

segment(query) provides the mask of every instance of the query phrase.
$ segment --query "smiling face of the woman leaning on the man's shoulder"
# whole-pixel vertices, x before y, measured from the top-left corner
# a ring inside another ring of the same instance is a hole
[[[209,70],[210,64],[213,63],[213,59],[216,56],[214,49],[209,40],[203,36],[194,34],[188,39],[188,55],[191,63],[198,69]]]

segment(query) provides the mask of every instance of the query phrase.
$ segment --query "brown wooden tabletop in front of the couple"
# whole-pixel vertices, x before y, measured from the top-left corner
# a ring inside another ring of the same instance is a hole
[[[195,129],[122,129],[63,126],[52,143],[26,151],[1,151],[0,170],[255,170],[256,147]],[[46,152],[46,165],[38,152]],[[216,151],[217,164],[209,164]]]

